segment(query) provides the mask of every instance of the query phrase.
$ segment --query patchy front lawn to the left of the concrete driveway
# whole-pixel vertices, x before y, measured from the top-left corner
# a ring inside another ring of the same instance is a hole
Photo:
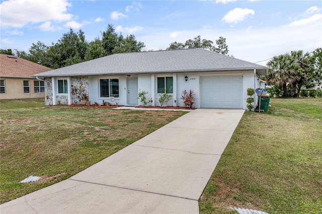
[[[1,104],[0,203],[64,180],[187,113]],[[41,180],[19,183],[30,175]]]

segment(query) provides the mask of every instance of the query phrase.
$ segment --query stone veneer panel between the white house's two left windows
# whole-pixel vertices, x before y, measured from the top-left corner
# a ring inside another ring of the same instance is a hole
[[[90,97],[89,93],[89,77],[88,76],[73,76],[70,77],[71,82],[71,104],[85,104],[83,100],[79,101],[81,99],[82,94],[87,94],[88,98]],[[72,94],[72,89],[76,90],[75,94]],[[90,104],[90,103],[87,103]]]

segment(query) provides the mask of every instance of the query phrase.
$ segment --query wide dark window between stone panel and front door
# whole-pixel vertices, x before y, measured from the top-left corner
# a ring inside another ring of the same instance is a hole
[[[100,79],[101,97],[119,97],[119,79]]]

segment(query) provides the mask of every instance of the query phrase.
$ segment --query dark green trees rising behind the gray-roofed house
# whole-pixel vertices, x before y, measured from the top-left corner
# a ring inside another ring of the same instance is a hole
[[[175,46],[174,44],[180,45]],[[206,48],[222,54],[228,53],[225,38],[220,37],[216,40],[216,47],[212,44],[211,40],[201,40],[200,36],[197,36],[193,40],[188,40],[185,45],[177,42],[171,43],[167,50]],[[118,34],[113,25],[109,24],[106,31],[101,32],[101,37],[96,37],[94,41],[87,41],[82,30],[75,32],[70,28],[56,43],[52,42],[50,46],[38,41],[36,44],[32,44],[29,53],[15,50],[16,55],[20,58],[57,69],[111,54],[144,51],[144,47],[144,43],[137,41],[134,35]],[[0,49],[0,53],[14,55],[11,49]]]

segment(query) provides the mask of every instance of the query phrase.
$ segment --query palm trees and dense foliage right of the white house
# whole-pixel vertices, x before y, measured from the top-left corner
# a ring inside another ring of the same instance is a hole
[[[265,80],[276,95],[299,97],[303,88],[322,84],[322,48],[304,53],[302,50],[274,56],[268,63]]]

